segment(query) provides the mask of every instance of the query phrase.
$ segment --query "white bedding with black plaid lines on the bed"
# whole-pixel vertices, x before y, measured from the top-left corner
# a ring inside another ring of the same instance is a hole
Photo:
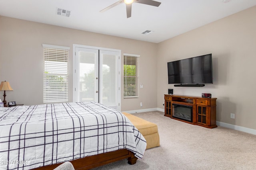
[[[122,113],[94,102],[0,107],[0,170],[28,170],[128,149],[146,140]]]

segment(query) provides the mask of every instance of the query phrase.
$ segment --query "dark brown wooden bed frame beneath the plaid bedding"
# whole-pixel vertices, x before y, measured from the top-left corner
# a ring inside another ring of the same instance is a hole
[[[91,168],[95,168],[97,166],[102,166],[125,158],[128,158],[128,164],[131,165],[136,164],[136,161],[138,159],[130,150],[120,149],[98,155],[86,156],[84,158],[71,160],[70,162],[73,164],[75,170],[88,170]],[[53,170],[62,163],[42,166],[39,168],[34,168],[33,170]]]

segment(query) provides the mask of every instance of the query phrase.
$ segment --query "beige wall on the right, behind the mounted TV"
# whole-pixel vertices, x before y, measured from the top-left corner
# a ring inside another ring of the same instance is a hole
[[[217,121],[256,129],[256,6],[158,44],[158,107],[168,88],[174,94],[217,99]],[[167,62],[212,53],[213,84],[174,87]],[[235,113],[235,119],[230,118]]]

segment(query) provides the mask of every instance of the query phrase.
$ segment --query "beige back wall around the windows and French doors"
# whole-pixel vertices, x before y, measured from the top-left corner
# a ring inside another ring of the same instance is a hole
[[[72,46],[80,44],[120,49],[122,57],[123,53],[140,55],[139,81],[143,84],[140,97],[123,99],[122,93],[121,109],[127,111],[157,106],[156,43],[0,16],[0,81],[9,81],[14,89],[13,92],[6,92],[8,102],[16,101],[25,105],[43,104],[42,43],[70,47],[70,102],[72,102]],[[3,100],[3,97],[1,99]],[[140,102],[143,104],[142,107]]]

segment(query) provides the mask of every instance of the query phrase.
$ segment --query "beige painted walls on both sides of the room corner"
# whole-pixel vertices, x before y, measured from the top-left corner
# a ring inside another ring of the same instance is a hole
[[[144,86],[138,99],[123,99],[122,94],[122,111],[163,109],[168,88],[174,94],[200,96],[204,92],[218,98],[217,121],[256,129],[255,16],[256,6],[158,44],[0,16],[0,81],[9,81],[14,89],[7,92],[8,101],[42,104],[42,43],[70,47],[71,68],[73,43],[121,49],[122,54],[141,55],[140,83]],[[213,55],[214,84],[201,88],[168,84],[167,62],[208,53]],[[72,72],[70,83],[72,102]],[[236,118],[230,119],[230,113]]]

